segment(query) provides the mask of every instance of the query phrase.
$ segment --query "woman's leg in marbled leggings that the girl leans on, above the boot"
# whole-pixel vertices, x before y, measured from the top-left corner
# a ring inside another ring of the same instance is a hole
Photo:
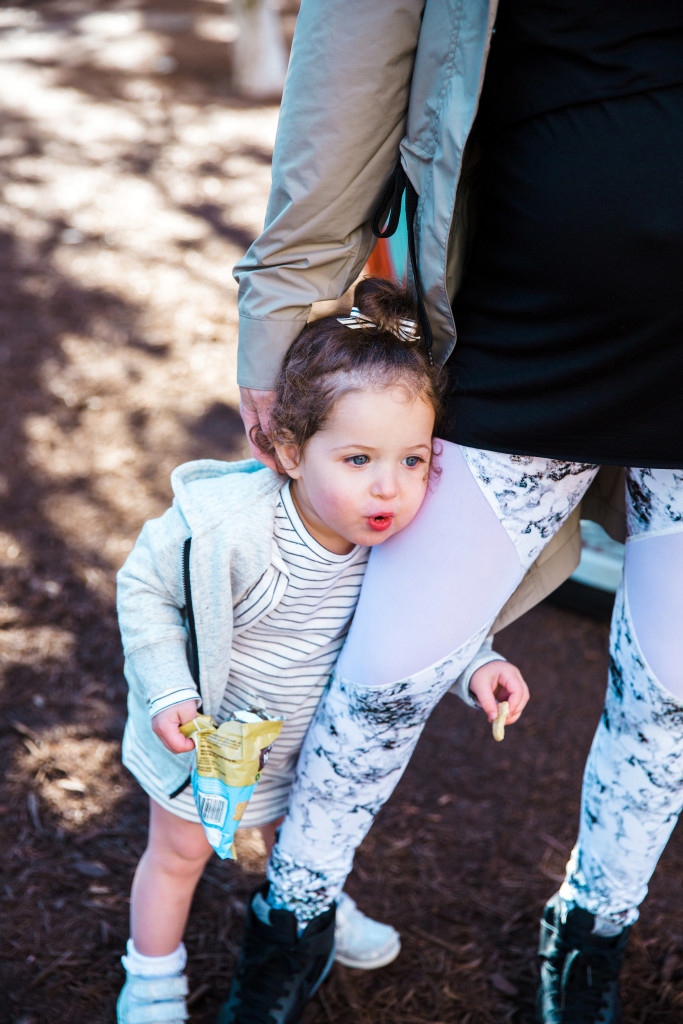
[[[597,471],[447,443],[440,462],[416,520],[372,553],[299,758],[268,879],[300,921],[337,897],[432,708]]]

